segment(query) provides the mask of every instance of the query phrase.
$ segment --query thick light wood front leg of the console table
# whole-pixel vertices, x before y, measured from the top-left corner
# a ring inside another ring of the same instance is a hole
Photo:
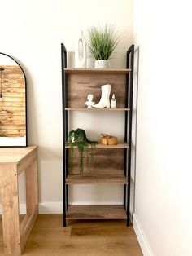
[[[17,170],[14,164],[0,164],[0,188],[5,254],[21,253],[20,209]]]

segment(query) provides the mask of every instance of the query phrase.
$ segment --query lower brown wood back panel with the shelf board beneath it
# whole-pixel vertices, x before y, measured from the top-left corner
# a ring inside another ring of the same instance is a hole
[[[69,146],[67,146],[69,150]],[[98,143],[95,148],[89,148],[88,158],[83,161],[83,171],[80,172],[80,155],[77,147],[68,152],[68,175],[66,184],[128,184],[124,174],[124,154],[128,144],[120,142],[117,145]]]

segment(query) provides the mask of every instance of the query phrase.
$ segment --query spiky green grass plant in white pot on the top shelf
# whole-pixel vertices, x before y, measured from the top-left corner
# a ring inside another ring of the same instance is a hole
[[[91,27],[88,29],[86,43],[90,54],[94,56],[94,68],[108,68],[108,59],[120,42],[120,36],[117,36],[116,29],[111,24],[103,27]]]

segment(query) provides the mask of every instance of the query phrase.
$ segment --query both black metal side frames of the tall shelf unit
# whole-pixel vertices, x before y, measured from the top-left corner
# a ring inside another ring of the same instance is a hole
[[[124,175],[128,184],[124,185],[124,210],[127,214],[127,226],[130,224],[130,175],[131,175],[131,142],[132,142],[132,116],[133,116],[133,66],[134,66],[134,45],[127,51],[126,68],[131,68],[131,72],[126,75],[125,82],[125,108],[130,111],[124,112],[124,142],[129,144],[129,148],[124,148]],[[66,227],[66,214],[68,210],[68,185],[66,178],[68,175],[68,149],[65,142],[68,139],[68,74],[67,50],[61,44],[61,67],[62,67],[62,100],[63,100],[63,227]]]

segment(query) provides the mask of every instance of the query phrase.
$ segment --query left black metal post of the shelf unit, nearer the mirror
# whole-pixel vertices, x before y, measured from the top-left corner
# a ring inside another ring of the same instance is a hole
[[[63,226],[66,227],[66,212],[68,209],[68,186],[66,177],[68,174],[68,151],[65,142],[68,137],[68,112],[65,110],[68,105],[68,80],[64,68],[67,68],[67,51],[63,43],[61,44],[61,67],[62,67],[62,110],[63,110]]]

